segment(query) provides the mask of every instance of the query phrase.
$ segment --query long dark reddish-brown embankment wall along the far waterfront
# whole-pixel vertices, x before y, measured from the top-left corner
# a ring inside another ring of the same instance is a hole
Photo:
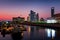
[[[35,22],[27,22],[26,21],[26,22],[20,22],[20,24],[60,30],[60,23],[35,23]]]

